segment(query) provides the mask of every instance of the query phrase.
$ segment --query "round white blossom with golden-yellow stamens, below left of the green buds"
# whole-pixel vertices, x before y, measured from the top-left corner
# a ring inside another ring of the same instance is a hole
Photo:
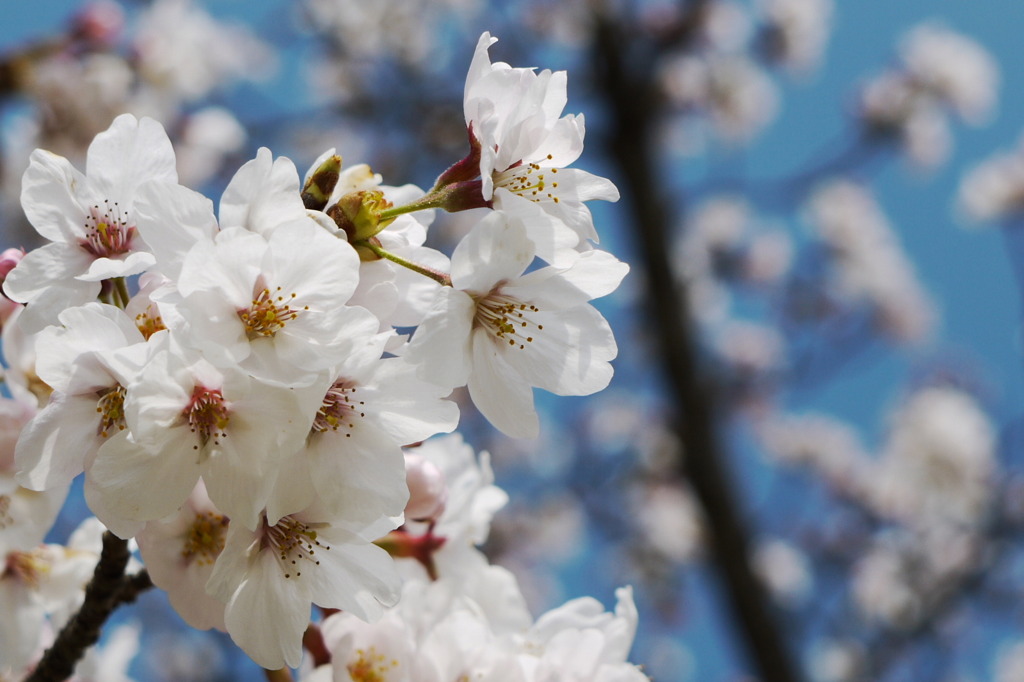
[[[178,310],[214,365],[309,383],[342,358],[346,328],[369,314],[345,305],[357,271],[355,252],[305,218],[268,238],[222,229],[185,257]]]

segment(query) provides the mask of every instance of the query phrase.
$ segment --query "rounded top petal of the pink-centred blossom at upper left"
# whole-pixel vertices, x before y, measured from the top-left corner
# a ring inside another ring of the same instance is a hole
[[[85,172],[98,197],[127,205],[146,180],[177,183],[174,148],[164,127],[150,118],[122,114],[96,135]]]

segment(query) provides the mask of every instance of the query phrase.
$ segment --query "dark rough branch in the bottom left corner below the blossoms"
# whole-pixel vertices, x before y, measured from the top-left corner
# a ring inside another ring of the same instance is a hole
[[[46,649],[36,670],[26,682],[59,682],[71,677],[75,664],[79,662],[85,650],[99,639],[99,631],[111,612],[122,603],[130,601],[123,599],[122,594],[131,594],[131,599],[140,590],[141,585],[128,587],[124,579],[125,566],[128,565],[128,541],[121,540],[114,534],[103,534],[103,551],[99,563],[92,573],[92,580],[85,588],[85,601],[78,613],[69,621],[53,646]],[[146,578],[138,579],[144,583]],[[135,577],[129,579],[131,584]],[[125,592],[127,589],[127,593]]]

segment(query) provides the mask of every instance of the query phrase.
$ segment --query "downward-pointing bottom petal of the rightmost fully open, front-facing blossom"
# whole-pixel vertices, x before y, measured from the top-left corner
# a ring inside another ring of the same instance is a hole
[[[483,329],[473,332],[473,374],[469,396],[487,421],[513,438],[536,438],[541,432],[530,385],[513,370]]]

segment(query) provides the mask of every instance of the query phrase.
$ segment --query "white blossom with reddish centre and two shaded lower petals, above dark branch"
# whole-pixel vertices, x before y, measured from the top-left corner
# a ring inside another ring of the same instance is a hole
[[[126,537],[141,521],[177,510],[202,475],[219,509],[256,527],[281,452],[309,431],[301,396],[238,369],[215,368],[168,341],[128,386],[130,437],[100,446],[86,500]]]

